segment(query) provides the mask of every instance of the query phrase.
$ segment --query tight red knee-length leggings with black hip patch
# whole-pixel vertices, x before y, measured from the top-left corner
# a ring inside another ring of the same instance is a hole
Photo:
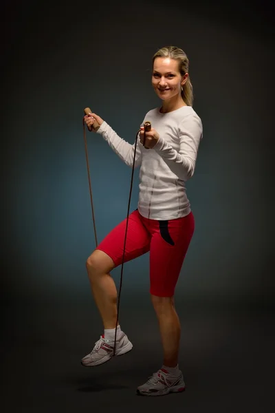
[[[129,215],[124,262],[150,251],[152,295],[173,297],[194,229],[192,212],[184,218],[167,221],[144,218],[137,210]],[[115,226],[96,248],[109,255],[115,267],[122,264],[125,230],[126,219]]]

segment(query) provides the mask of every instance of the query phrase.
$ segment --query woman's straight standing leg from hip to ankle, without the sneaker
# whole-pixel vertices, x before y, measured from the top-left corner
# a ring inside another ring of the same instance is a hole
[[[173,297],[195,222],[191,212],[177,220],[159,221],[155,226],[150,250],[150,293],[162,338],[163,363],[175,367],[181,328]]]

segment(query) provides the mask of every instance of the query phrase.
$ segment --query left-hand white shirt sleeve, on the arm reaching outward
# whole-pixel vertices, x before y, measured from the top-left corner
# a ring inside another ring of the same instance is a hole
[[[104,140],[109,143],[109,146],[113,151],[122,159],[126,165],[133,167],[133,161],[135,156],[135,168],[139,167],[142,163],[142,153],[140,151],[139,140],[137,140],[136,150],[135,143],[126,142],[120,138],[118,134],[109,126],[105,121],[100,125],[96,131],[97,134],[102,135]],[[137,138],[138,139],[138,138]]]

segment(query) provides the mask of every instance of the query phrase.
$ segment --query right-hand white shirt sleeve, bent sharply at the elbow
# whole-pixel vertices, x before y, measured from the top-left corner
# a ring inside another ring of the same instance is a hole
[[[153,149],[162,158],[172,160],[177,166],[183,168],[186,178],[191,178],[195,171],[202,134],[201,119],[198,116],[188,115],[179,124],[179,152],[173,149],[163,136],[159,136],[159,140]]]

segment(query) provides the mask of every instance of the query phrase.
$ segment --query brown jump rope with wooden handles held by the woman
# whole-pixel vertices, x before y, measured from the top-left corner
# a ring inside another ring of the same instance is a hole
[[[89,116],[91,114],[91,109],[89,107],[86,107],[84,109],[85,115]],[[94,235],[95,235],[95,240],[96,240],[96,246],[98,246],[98,237],[96,235],[96,220],[95,220],[95,215],[94,215],[94,203],[93,203],[93,195],[91,192],[91,177],[90,177],[90,170],[89,170],[89,157],[88,157],[88,150],[87,150],[87,138],[86,138],[86,129],[85,129],[85,117],[83,116],[83,135],[84,135],[84,142],[85,142],[85,153],[86,153],[86,163],[87,163],[87,173],[88,173],[88,180],[89,180],[89,193],[90,193],[90,199],[91,199],[91,215],[93,218],[93,223],[94,223]],[[99,127],[100,125],[96,122],[94,122],[94,125],[96,128]],[[91,129],[88,130],[91,132]],[[125,255],[125,247],[126,247],[126,238],[127,238],[127,230],[128,230],[128,222],[129,222],[129,211],[130,211],[130,206],[131,206],[131,195],[132,195],[132,189],[133,189],[133,173],[135,169],[135,153],[137,150],[137,136],[140,133],[141,129],[137,131],[137,134],[135,136],[135,149],[133,153],[133,167],[132,167],[132,173],[131,173],[131,184],[130,184],[130,193],[129,193],[129,201],[128,201],[128,209],[127,209],[127,215],[126,215],[126,229],[125,229],[125,237],[124,237],[124,247],[123,247],[123,255],[122,255],[122,264],[121,264],[121,273],[120,273],[120,288],[118,292],[118,314],[117,314],[117,319],[116,319],[116,324],[115,324],[115,343],[113,346],[113,355],[115,355],[115,344],[116,344],[116,336],[117,336],[117,330],[118,330],[118,319],[119,319],[119,310],[120,310],[120,295],[121,295],[121,289],[122,289],[122,275],[123,275],[123,268],[124,268],[124,255]],[[151,131],[151,122],[145,122],[144,123],[144,141],[143,141],[143,146],[145,149],[145,141],[146,141],[146,132]]]

